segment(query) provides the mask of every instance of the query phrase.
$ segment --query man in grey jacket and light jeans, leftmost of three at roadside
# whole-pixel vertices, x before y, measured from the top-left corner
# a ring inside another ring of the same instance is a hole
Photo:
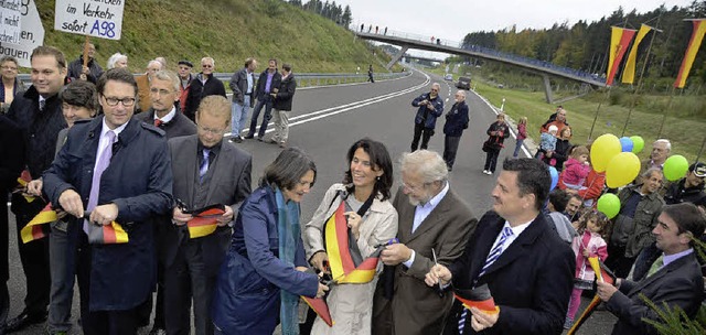
[[[247,110],[253,108],[255,102],[255,69],[257,61],[255,58],[245,60],[245,67],[233,74],[231,77],[231,89],[233,90],[233,117],[231,119],[231,141],[243,142],[240,131],[245,128]]]

